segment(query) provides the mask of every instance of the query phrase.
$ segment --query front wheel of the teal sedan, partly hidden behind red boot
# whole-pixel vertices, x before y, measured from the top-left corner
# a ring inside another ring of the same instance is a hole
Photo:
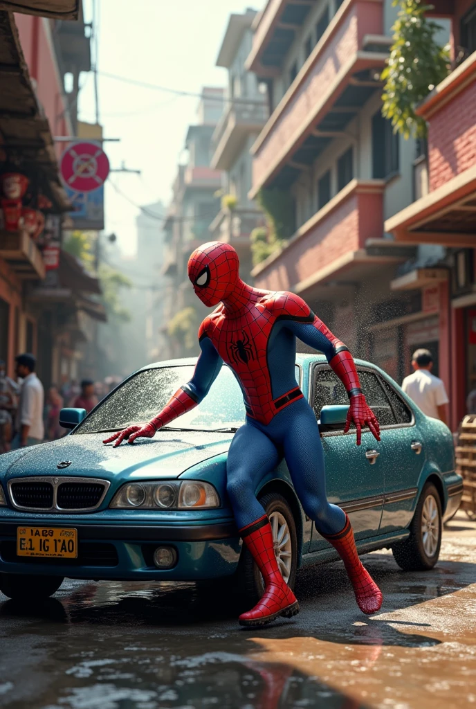
[[[297,531],[293,512],[288,501],[276,492],[266,493],[259,501],[268,515],[273,529],[273,536],[276,535],[277,531],[281,537],[280,550],[283,556],[280,557],[278,566],[280,566],[283,576],[288,577],[288,586],[294,588],[297,571]],[[288,537],[288,540],[286,537]],[[287,556],[288,553],[290,553],[290,557]],[[239,591],[242,598],[246,599],[246,602],[251,605],[258,603],[261,596],[263,596],[263,579],[258,566],[254,563],[254,559],[246,547],[243,548],[239,560],[238,576]]]

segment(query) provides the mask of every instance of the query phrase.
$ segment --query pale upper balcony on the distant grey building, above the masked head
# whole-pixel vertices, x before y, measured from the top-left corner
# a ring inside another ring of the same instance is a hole
[[[224,113],[212,136],[212,167],[229,170],[244,148],[246,138],[261,132],[268,120],[268,106],[263,102],[237,103]]]

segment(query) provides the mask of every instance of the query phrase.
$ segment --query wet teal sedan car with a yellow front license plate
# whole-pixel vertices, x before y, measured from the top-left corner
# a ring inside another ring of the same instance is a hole
[[[123,381],[89,415],[64,409],[72,429],[55,442],[0,456],[0,590],[50,596],[65,576],[127,581],[212,581],[249,600],[261,576],[242,549],[226,492],[227,451],[244,420],[241,390],[222,367],[208,396],[153,439],[113,448],[106,433],[142,423],[191,379],[195,360],[160,362]],[[296,379],[319,420],[329,500],[351,518],[359,552],[391,548],[402,569],[438,561],[443,520],[463,481],[453,440],[385,372],[356,361],[381,440],[344,434],[348,398],[322,355],[298,355]],[[285,463],[256,489],[276,557],[292,586],[297,569],[334,561],[302,511]]]

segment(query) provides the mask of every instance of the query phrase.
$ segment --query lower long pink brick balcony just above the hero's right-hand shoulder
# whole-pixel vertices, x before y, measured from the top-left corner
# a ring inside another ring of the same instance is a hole
[[[355,264],[388,263],[394,257],[375,249],[388,241],[382,239],[384,189],[383,180],[352,180],[283,250],[254,268],[256,287],[304,293]]]

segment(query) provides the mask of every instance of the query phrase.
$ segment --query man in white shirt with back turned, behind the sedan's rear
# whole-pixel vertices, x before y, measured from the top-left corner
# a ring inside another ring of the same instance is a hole
[[[433,357],[429,350],[416,350],[412,357],[413,374],[406,376],[402,389],[421,408],[423,413],[432,418],[439,418],[448,425],[446,406],[449,403],[445,385],[438,376],[431,374]]]

